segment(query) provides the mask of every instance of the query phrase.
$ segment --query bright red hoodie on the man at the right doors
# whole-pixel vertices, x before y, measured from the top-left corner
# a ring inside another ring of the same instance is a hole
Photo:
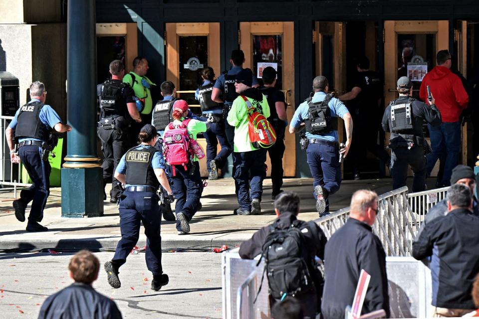
[[[459,76],[444,66],[435,66],[426,74],[419,89],[419,97],[428,98],[427,85],[436,100],[443,122],[458,122],[461,112],[468,106],[469,96]]]

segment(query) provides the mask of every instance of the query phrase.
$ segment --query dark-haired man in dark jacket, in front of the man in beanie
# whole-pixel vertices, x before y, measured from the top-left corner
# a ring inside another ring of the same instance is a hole
[[[448,191],[448,214],[424,226],[413,242],[413,257],[431,257],[433,317],[461,317],[476,309],[471,296],[479,272],[479,217],[472,213],[469,187]]]

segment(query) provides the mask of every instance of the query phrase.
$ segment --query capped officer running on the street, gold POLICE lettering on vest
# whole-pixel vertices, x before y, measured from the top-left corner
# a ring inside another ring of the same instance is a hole
[[[156,193],[159,184],[168,191],[170,201],[173,201],[173,195],[166,178],[163,155],[154,147],[158,141],[156,129],[147,124],[138,138],[141,144],[123,155],[115,171],[115,178],[125,184],[125,191],[120,195],[121,239],[113,259],[105,263],[105,271],[110,286],[120,288],[118,269],[138,242],[142,222],[147,237],[146,265],[153,273],[151,289],[158,291],[169,281],[161,265],[161,214]]]

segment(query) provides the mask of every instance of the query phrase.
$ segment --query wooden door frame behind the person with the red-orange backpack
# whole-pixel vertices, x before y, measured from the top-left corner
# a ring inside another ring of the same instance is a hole
[[[252,51],[251,35],[276,35],[282,34],[281,53],[282,53],[282,83],[283,90],[286,91],[286,115],[288,123],[294,114],[294,22],[292,21],[273,21],[273,22],[240,22],[240,48],[244,52],[244,68],[252,69]],[[287,87],[285,86],[287,84]],[[284,176],[296,176],[296,138],[294,134],[286,132],[285,137],[286,151],[283,157]],[[294,150],[294,152],[291,152]],[[289,152],[288,152],[289,151]],[[288,156],[286,156],[288,154]],[[269,164],[269,160],[267,161]],[[268,169],[268,175],[271,170]]]

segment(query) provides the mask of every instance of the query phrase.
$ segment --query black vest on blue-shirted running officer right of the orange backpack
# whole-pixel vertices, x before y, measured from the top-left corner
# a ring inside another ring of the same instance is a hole
[[[331,94],[327,94],[323,101],[312,103],[308,98],[308,119],[304,121],[306,124],[306,132],[314,135],[323,135],[338,129],[336,118],[331,117],[331,109],[328,106],[331,101]]]

